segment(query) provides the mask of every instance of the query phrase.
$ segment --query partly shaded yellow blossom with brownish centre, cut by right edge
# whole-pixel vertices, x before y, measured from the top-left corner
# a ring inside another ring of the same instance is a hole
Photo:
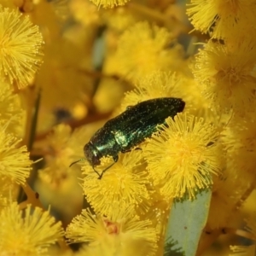
[[[247,40],[235,47],[212,41],[204,45],[196,55],[193,73],[212,108],[221,112],[234,108],[241,113],[251,108],[249,102],[255,100],[255,60],[256,45]]]

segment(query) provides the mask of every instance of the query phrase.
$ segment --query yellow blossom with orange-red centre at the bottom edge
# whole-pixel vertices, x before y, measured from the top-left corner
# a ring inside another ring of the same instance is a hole
[[[67,226],[67,239],[70,242],[90,242],[84,247],[84,254],[88,256],[155,255],[157,236],[151,222],[129,214],[129,208],[114,218],[96,216],[89,210],[83,210]]]

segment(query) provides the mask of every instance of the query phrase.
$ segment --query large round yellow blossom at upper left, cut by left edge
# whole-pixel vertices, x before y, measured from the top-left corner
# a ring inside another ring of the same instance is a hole
[[[43,38],[28,16],[0,6],[0,75],[18,88],[32,83],[42,61]]]

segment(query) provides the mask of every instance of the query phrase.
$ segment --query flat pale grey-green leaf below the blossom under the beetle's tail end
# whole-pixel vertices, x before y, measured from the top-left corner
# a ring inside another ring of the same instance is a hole
[[[207,223],[212,191],[197,194],[195,200],[173,204],[166,227],[164,256],[194,256]]]

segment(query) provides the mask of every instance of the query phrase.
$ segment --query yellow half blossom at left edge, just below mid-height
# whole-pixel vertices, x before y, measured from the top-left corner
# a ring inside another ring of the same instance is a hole
[[[19,147],[20,140],[6,133],[6,126],[0,125],[0,176],[25,183],[32,170],[32,160],[26,146]]]

